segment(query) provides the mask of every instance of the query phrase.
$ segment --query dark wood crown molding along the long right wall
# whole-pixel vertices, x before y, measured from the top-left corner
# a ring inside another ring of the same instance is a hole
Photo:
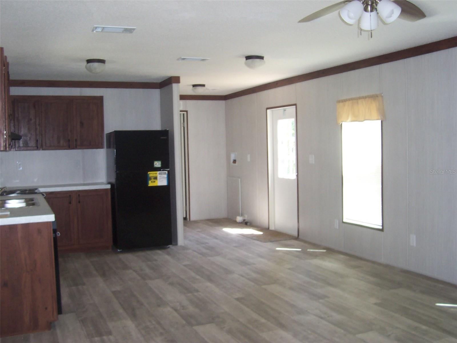
[[[292,85],[294,83],[318,79],[318,78],[324,77],[324,76],[345,73],[346,71],[372,67],[372,66],[378,65],[378,64],[398,61],[400,59],[408,59],[410,57],[430,54],[430,53],[433,53],[436,51],[455,48],[455,47],[457,47],[457,36],[452,37],[452,38],[443,39],[438,42],[420,45],[420,46],[417,46],[414,48],[395,51],[390,54],[384,54],[384,55],[380,55],[380,56],[376,56],[376,57],[371,57],[369,59],[362,59],[360,61],[346,63],[346,64],[342,64],[342,65],[338,65],[335,67],[326,68],[326,69],[322,69],[322,70],[312,71],[310,73],[292,76],[287,79],[278,80],[278,81],[266,83],[264,85],[244,89],[243,91],[237,91],[237,92],[234,92],[231,94],[227,94],[225,96],[225,100],[234,99],[239,96],[258,93],[261,91],[267,91],[267,90],[270,90],[273,88],[288,86],[288,85]]]

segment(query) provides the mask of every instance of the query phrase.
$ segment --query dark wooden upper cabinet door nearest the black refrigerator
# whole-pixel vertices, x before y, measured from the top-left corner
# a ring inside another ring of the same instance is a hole
[[[74,147],[103,148],[103,97],[74,99],[73,117]]]

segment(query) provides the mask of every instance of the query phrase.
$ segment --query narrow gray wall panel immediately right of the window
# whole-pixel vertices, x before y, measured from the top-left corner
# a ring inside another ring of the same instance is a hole
[[[408,149],[405,60],[381,65],[383,121],[383,256],[406,268],[408,251]]]

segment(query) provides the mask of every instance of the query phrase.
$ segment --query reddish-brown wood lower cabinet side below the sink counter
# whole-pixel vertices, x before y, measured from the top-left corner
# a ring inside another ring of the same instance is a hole
[[[57,320],[51,222],[0,227],[0,337],[46,331]]]

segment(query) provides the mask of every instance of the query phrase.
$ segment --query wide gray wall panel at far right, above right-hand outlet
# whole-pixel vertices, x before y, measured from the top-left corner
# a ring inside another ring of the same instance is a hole
[[[408,266],[457,283],[457,48],[406,61]]]

